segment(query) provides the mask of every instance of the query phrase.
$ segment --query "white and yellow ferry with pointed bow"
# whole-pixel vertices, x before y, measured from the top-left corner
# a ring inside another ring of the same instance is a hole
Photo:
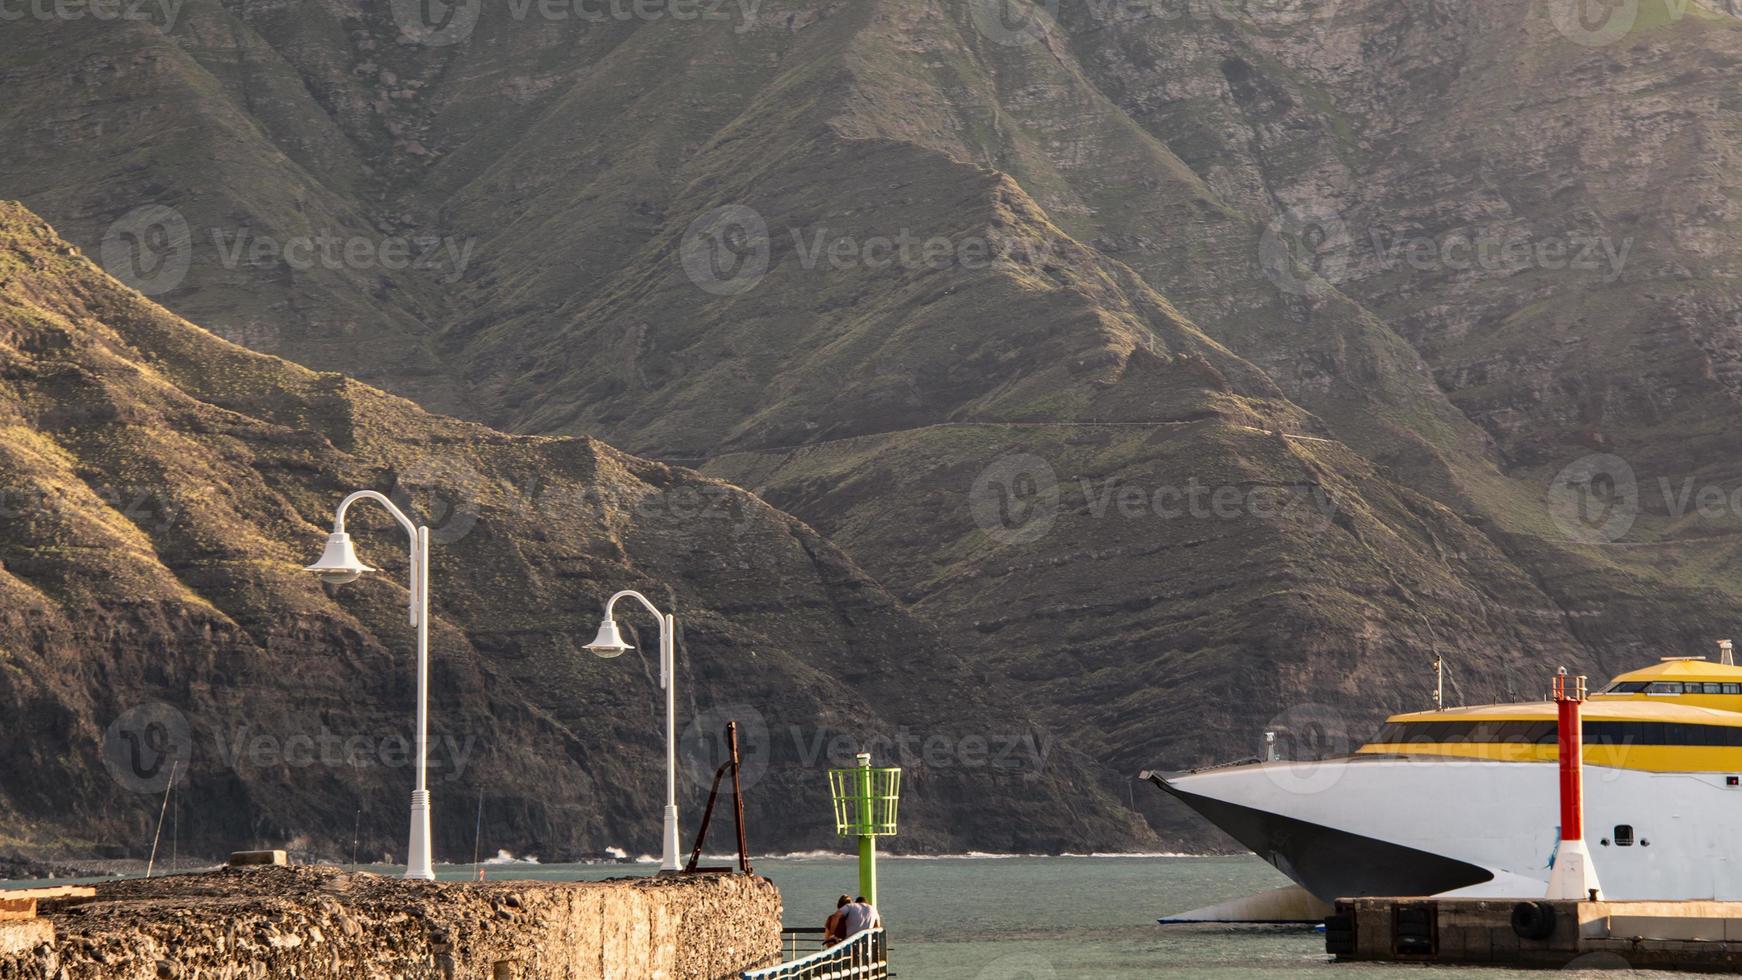
[[[1604,898],[1742,900],[1742,667],[1665,658],[1583,707]],[[1528,898],[1559,842],[1556,705],[1397,714],[1350,755],[1143,773],[1313,896]]]

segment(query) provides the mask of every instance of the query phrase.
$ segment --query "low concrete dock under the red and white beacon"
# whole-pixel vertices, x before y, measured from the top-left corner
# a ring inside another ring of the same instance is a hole
[[[1338,961],[1742,971],[1742,902],[1341,898]]]

